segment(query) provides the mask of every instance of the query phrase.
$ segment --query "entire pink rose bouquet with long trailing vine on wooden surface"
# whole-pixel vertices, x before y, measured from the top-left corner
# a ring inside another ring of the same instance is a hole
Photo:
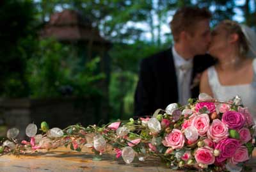
[[[83,146],[95,152],[93,160],[101,160],[107,144],[131,163],[134,157],[147,160],[160,157],[172,169],[205,171],[241,171],[250,159],[255,144],[255,123],[241,98],[218,102],[201,93],[198,100],[189,99],[187,106],[170,104],[157,109],[153,116],[129,121],[116,121],[101,127],[71,125],[66,129],[49,129],[41,123],[42,134],[35,124],[26,128],[29,141],[15,139],[19,129],[9,129],[0,153],[31,153],[38,149],[70,146],[81,151]]]

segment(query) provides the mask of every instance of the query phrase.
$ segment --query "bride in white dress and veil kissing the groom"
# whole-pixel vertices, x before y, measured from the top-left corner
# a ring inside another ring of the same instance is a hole
[[[209,53],[218,60],[204,71],[200,92],[220,100],[241,97],[256,121],[256,35],[247,26],[223,20],[212,31]]]

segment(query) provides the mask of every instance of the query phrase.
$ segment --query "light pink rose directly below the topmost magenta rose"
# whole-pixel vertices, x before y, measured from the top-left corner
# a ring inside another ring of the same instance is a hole
[[[210,119],[208,114],[199,114],[193,118],[191,126],[195,127],[199,136],[204,136],[209,129]]]

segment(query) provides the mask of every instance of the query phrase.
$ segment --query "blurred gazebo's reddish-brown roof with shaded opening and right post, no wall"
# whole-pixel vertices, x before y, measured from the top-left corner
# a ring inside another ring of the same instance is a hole
[[[108,94],[110,59],[108,50],[111,43],[100,36],[99,30],[92,27],[92,22],[75,10],[64,10],[51,15],[40,34],[41,38],[53,37],[62,43],[76,47],[77,56],[84,61],[100,57],[99,72],[106,75],[100,83],[104,93]]]

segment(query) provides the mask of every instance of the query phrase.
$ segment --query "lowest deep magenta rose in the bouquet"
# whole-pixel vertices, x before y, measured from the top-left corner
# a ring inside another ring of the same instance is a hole
[[[232,157],[240,146],[241,143],[237,139],[226,138],[221,140],[215,147],[216,150],[220,150],[220,155],[216,157],[216,161],[223,162]]]

